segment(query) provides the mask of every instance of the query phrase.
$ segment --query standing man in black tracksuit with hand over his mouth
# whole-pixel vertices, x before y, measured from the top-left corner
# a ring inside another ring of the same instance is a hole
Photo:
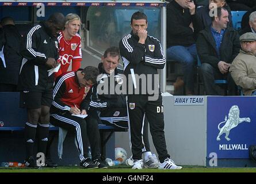
[[[142,129],[146,115],[162,169],[181,169],[166,150],[163,104],[157,69],[165,67],[160,42],[147,35],[147,16],[137,11],[131,18],[132,32],[121,39],[119,47],[127,77],[128,117],[131,127],[133,169],[142,169]],[[142,79],[139,81],[139,78]],[[131,85],[133,84],[133,85]],[[152,86],[153,85],[153,86]],[[153,90],[153,91],[152,91]]]

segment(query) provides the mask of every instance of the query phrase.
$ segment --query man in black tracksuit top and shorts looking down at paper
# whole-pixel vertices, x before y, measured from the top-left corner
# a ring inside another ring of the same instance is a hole
[[[25,124],[26,167],[34,167],[33,146],[39,138],[38,150],[45,154],[49,134],[49,108],[52,104],[54,75],[48,70],[57,66],[58,40],[56,36],[65,25],[62,13],[52,14],[47,21],[30,29],[21,55],[18,90],[21,91],[20,106],[28,112]]]

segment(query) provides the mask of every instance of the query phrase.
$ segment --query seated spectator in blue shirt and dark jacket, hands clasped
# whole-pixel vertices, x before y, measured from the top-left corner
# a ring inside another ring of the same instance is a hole
[[[218,7],[216,16],[212,17],[212,25],[198,34],[197,53],[201,60],[199,68],[206,95],[221,95],[215,79],[227,79],[228,94],[236,95],[235,83],[228,68],[240,49],[239,34],[228,25],[228,11]]]

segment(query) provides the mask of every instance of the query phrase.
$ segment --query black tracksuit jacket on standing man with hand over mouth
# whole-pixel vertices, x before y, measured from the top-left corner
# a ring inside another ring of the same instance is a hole
[[[130,74],[134,71],[134,74],[138,76],[141,74],[146,76],[146,82],[142,83],[143,80],[140,80],[139,84],[136,82],[136,87],[139,87],[139,94],[151,95],[151,91],[148,91],[148,77],[152,78],[149,89],[154,90],[154,75],[158,74],[158,69],[165,67],[166,57],[163,55],[161,43],[154,37],[148,35],[145,44],[140,44],[138,41],[139,37],[131,32],[124,36],[119,43],[120,54],[124,62],[124,74],[128,81],[127,90],[132,87],[134,94],[134,81],[132,86],[129,85],[129,83],[132,83]],[[128,75],[130,75],[130,78]],[[136,76],[136,81],[138,76]],[[159,81],[156,83],[158,85],[155,87],[158,88],[160,94]]]

